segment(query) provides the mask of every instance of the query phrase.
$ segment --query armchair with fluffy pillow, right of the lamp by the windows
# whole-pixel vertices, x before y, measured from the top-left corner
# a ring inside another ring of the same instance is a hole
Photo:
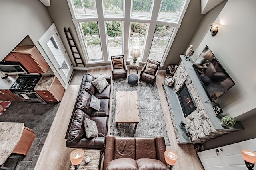
[[[159,66],[160,62],[148,59],[140,72],[140,80],[154,84]]]

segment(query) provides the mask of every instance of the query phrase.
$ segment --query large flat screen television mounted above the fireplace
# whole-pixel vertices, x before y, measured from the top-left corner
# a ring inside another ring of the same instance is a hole
[[[196,59],[193,68],[211,102],[235,85],[208,46]]]

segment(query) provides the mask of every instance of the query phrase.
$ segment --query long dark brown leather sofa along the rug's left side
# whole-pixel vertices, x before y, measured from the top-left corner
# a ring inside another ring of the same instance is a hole
[[[110,107],[111,77],[104,76],[109,85],[101,93],[92,85],[92,81],[97,77],[98,76],[92,76],[91,74],[83,76],[65,136],[65,139],[67,139],[66,147],[102,150],[105,147]],[[100,99],[99,111],[89,107],[92,95]],[[98,137],[86,137],[84,129],[85,117],[96,122]]]

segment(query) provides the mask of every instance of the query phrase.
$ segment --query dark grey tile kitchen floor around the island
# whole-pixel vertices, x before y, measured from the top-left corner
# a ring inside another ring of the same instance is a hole
[[[20,161],[18,170],[34,170],[59,104],[12,102],[7,111],[0,115],[1,122],[24,122],[25,126],[34,130],[36,134],[28,155]],[[12,166],[14,162],[15,160],[10,159],[4,166]]]

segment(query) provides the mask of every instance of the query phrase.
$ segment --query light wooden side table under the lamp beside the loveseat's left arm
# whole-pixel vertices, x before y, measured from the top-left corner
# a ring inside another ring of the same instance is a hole
[[[100,150],[99,149],[83,149],[84,158],[77,170],[99,170],[100,169]],[[90,162],[85,164],[85,158],[90,157]],[[70,170],[74,170],[71,165]]]

